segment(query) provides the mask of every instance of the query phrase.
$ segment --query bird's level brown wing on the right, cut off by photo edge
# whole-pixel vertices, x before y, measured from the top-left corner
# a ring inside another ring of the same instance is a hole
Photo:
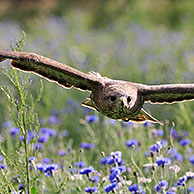
[[[144,102],[175,103],[194,100],[194,84],[140,85]]]

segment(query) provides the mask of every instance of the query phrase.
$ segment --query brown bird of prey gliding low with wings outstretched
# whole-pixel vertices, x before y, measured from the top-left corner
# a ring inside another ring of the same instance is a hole
[[[144,103],[170,104],[194,99],[194,84],[144,85],[113,80],[96,72],[83,73],[35,53],[0,50],[0,62],[6,59],[11,59],[11,65],[19,70],[33,72],[65,88],[90,91],[82,105],[112,119],[162,124],[142,108]]]

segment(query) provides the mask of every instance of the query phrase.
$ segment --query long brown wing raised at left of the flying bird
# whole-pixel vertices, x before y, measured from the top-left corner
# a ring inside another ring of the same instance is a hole
[[[66,88],[74,86],[81,90],[92,91],[102,84],[95,74],[83,73],[35,53],[0,50],[0,62],[5,59],[12,59],[11,65],[13,67],[36,73]]]

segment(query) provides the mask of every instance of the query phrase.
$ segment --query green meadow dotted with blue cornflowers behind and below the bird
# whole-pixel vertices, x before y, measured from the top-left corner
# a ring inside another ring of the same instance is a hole
[[[38,20],[24,41],[18,23],[2,20],[0,48],[115,79],[193,82],[192,32],[122,21],[94,30],[87,20]],[[163,126],[115,121],[81,107],[87,92],[1,67],[0,193],[194,193],[193,102],[146,104]]]

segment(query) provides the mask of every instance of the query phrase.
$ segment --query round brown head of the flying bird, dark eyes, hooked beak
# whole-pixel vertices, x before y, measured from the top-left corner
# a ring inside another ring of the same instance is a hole
[[[95,104],[100,112],[113,119],[125,120],[137,114],[143,106],[137,88],[125,82],[107,85],[100,93]]]

